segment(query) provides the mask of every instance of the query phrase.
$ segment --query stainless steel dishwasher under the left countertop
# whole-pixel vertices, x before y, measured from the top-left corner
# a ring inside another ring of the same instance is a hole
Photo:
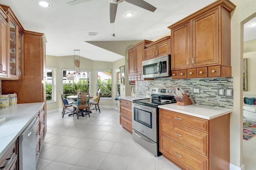
[[[36,119],[32,119],[18,137],[19,170],[36,170]]]

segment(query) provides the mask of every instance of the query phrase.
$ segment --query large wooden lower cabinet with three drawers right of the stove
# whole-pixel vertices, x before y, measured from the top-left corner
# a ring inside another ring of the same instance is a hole
[[[159,111],[159,150],[185,170],[229,170],[230,114],[206,120]]]

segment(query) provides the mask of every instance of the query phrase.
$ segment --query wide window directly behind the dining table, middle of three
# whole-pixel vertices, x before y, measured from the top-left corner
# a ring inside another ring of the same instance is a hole
[[[80,74],[79,74],[80,73]],[[90,71],[63,70],[63,97],[76,95],[76,90],[87,91],[90,87]]]

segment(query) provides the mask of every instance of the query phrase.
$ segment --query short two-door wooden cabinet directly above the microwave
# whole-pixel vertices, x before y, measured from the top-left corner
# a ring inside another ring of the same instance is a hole
[[[171,54],[171,36],[166,36],[146,45],[145,60]]]

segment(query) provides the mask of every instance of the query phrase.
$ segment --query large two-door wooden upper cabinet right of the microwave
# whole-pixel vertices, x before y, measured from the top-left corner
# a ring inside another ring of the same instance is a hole
[[[208,67],[208,77],[231,76],[230,12],[235,7],[229,0],[219,0],[169,26],[172,70]],[[218,75],[210,68],[215,65]]]

